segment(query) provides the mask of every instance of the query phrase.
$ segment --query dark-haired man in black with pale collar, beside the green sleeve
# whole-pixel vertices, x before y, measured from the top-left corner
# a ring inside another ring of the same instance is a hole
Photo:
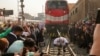
[[[22,35],[23,29],[20,26],[14,26],[12,32],[10,32],[6,38],[9,41],[9,46],[16,40],[21,40],[20,36]],[[8,48],[9,48],[8,46]]]

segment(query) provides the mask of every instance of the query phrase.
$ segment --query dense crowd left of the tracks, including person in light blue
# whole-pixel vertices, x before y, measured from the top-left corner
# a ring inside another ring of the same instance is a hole
[[[48,56],[39,49],[44,44],[43,33],[44,28],[34,23],[0,25],[0,56]]]

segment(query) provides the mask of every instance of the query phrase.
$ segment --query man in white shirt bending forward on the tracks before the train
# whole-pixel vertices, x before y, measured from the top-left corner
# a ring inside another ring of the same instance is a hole
[[[59,37],[54,40],[53,44],[54,44],[54,46],[58,47],[58,55],[59,55],[61,48],[63,48],[63,52],[66,52],[65,48],[67,47],[69,41],[67,38],[62,37],[59,32],[58,32],[58,35],[59,35]]]

